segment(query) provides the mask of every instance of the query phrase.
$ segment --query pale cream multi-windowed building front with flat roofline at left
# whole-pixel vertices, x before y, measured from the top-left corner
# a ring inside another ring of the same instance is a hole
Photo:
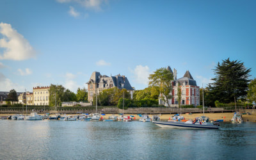
[[[37,86],[33,88],[33,104],[35,106],[49,105],[49,86]]]

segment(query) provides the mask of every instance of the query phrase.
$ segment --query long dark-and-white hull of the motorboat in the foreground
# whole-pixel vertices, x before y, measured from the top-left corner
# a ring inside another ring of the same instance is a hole
[[[181,122],[157,122],[153,121],[154,124],[163,128],[173,128],[173,129],[219,129],[217,125],[200,125],[200,124],[185,124]]]

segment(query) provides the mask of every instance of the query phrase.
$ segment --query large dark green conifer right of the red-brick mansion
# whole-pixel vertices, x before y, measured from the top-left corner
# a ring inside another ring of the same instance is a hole
[[[210,83],[209,96],[211,101],[219,100],[221,103],[234,102],[234,99],[243,99],[246,96],[251,68],[244,67],[241,61],[223,60],[213,69],[215,77]]]

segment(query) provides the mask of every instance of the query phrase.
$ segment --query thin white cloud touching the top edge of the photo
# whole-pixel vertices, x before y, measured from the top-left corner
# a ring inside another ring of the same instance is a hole
[[[77,3],[86,9],[99,11],[101,6],[104,3],[107,3],[108,0],[57,0],[59,3]]]

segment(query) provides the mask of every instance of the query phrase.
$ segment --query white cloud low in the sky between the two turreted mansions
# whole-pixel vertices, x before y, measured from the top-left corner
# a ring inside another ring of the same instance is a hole
[[[145,67],[137,65],[134,70],[132,70],[132,74],[136,83],[148,84],[150,71],[147,65]]]

